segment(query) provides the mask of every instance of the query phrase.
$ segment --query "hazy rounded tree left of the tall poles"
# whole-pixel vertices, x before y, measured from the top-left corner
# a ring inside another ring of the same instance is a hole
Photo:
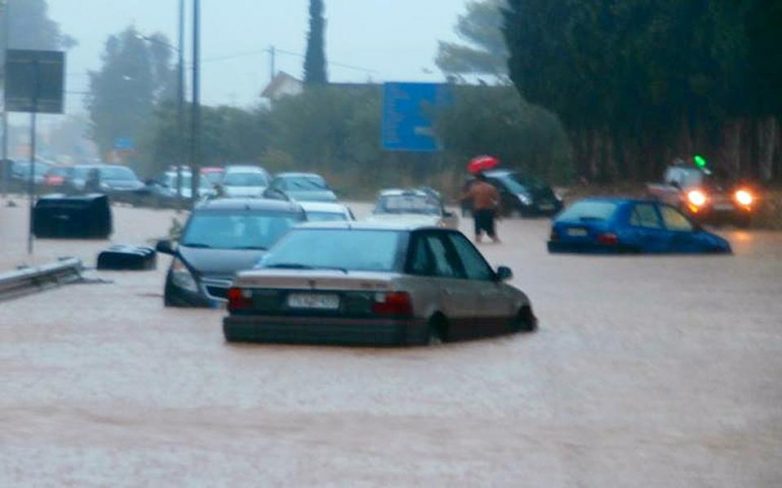
[[[160,36],[158,41],[166,42]],[[87,108],[92,137],[107,155],[120,139],[138,142],[155,105],[175,79],[169,65],[170,52],[158,42],[139,36],[133,27],[106,41],[103,66],[90,72]]]

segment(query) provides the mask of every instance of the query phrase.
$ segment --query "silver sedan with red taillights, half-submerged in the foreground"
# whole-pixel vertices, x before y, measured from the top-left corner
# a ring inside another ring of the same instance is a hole
[[[537,320],[463,234],[437,227],[313,223],[292,229],[237,275],[227,341],[431,344]]]

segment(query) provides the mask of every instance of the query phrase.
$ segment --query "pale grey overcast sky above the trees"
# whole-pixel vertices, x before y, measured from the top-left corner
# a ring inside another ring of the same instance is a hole
[[[67,54],[69,92],[86,91],[86,73],[100,67],[106,38],[128,25],[144,34],[162,32],[176,42],[178,0],[48,1],[50,17],[79,41]],[[434,67],[437,41],[456,39],[453,28],[466,2],[326,0],[330,79],[442,80]],[[189,26],[192,1],[186,4]],[[269,56],[264,51],[271,45],[278,49],[277,69],[301,77],[308,5],[308,0],[202,0],[203,101],[255,103],[269,81]],[[189,32],[187,38],[189,60]],[[67,108],[69,112],[83,110],[80,97],[72,94]]]

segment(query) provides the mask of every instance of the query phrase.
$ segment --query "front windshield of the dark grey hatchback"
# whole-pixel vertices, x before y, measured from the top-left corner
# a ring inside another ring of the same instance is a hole
[[[268,249],[299,215],[274,212],[196,212],[190,218],[182,245],[216,249]]]

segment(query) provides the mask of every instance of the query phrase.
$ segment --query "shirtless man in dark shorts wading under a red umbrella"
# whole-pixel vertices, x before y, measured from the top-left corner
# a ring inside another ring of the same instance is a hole
[[[498,243],[495,221],[500,206],[500,193],[486,180],[483,171],[496,167],[499,164],[497,158],[481,156],[474,158],[467,166],[470,173],[475,174],[473,182],[462,194],[462,200],[470,200],[472,216],[475,222],[475,242],[480,243],[485,232],[489,238]]]

